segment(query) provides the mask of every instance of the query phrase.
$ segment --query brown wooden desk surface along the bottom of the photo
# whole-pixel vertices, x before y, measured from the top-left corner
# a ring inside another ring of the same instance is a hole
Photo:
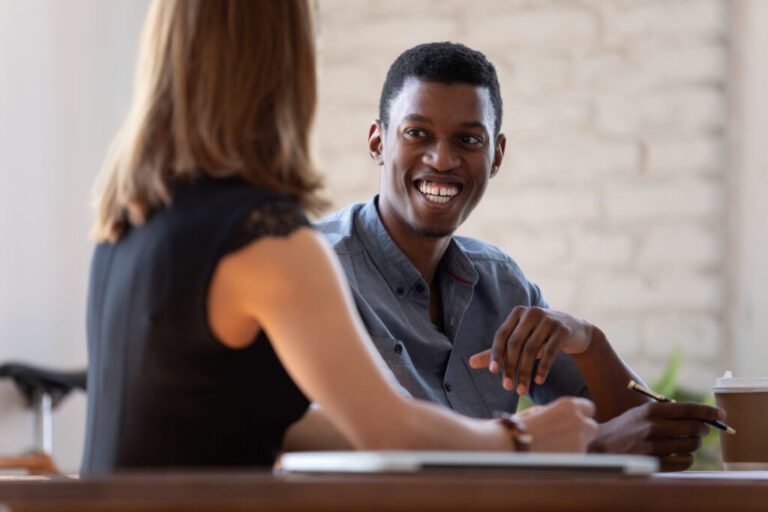
[[[445,472],[376,476],[143,474],[0,482],[13,512],[768,510],[768,481]],[[2,510],[2,507],[0,507]]]

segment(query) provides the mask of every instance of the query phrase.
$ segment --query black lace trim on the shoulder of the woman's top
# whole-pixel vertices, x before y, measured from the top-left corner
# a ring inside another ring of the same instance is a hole
[[[226,252],[236,251],[261,237],[285,237],[304,226],[311,224],[296,203],[289,199],[267,201],[254,207],[235,228]]]

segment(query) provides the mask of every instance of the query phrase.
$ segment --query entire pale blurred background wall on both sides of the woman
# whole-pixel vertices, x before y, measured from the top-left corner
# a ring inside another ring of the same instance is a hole
[[[146,0],[0,0],[0,362],[86,364],[90,190],[130,100]],[[389,64],[450,40],[497,67],[507,154],[462,234],[647,380],[704,396],[768,374],[768,2],[319,0],[317,139],[334,207],[366,201]],[[76,470],[85,398],[54,418]],[[0,382],[0,454],[32,443]]]

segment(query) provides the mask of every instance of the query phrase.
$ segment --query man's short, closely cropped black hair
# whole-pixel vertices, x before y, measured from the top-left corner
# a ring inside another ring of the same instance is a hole
[[[487,87],[495,114],[494,135],[501,129],[501,92],[496,68],[485,55],[458,43],[426,43],[406,50],[389,67],[379,99],[379,119],[389,125],[389,108],[409,77],[441,84]]]

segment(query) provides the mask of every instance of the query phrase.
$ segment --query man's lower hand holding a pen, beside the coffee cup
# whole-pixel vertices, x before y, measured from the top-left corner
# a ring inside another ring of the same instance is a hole
[[[709,431],[704,421],[718,419],[725,412],[716,407],[649,402],[602,423],[589,451],[654,455],[662,471],[683,471]]]

